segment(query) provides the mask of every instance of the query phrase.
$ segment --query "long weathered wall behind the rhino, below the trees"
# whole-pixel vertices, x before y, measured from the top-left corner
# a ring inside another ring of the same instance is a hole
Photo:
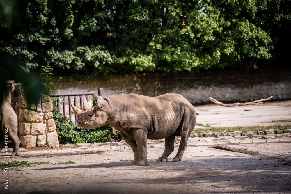
[[[249,71],[120,74],[109,75],[107,80],[96,78],[92,70],[92,74],[83,81],[74,77],[54,77],[53,92],[97,93],[97,88],[103,88],[103,97],[118,93],[158,96],[172,92],[181,94],[192,104],[208,103],[209,97],[223,102],[246,102],[270,96],[273,96],[272,100],[291,99],[290,70],[290,67],[285,67]]]

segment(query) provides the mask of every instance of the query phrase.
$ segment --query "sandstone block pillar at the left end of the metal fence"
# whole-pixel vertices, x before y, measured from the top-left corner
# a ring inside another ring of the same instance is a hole
[[[20,91],[21,85],[15,86],[15,89]],[[49,147],[58,148],[52,99],[43,95],[37,104],[29,105],[21,93],[17,92],[19,95],[16,113],[19,116],[19,135],[23,147],[45,147],[47,144]]]

